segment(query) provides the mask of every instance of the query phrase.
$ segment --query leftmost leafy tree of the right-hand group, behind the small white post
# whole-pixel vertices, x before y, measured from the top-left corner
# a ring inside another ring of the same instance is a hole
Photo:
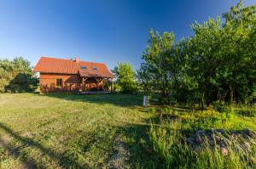
[[[160,92],[160,101],[170,103],[170,93],[177,70],[177,59],[172,55],[174,34],[164,32],[163,36],[152,29],[148,48],[143,53],[143,63],[137,76],[143,89],[147,92]]]

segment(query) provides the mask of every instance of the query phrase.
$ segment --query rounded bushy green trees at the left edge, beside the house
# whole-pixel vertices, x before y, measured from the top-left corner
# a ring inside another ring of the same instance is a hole
[[[0,93],[32,91],[37,83],[38,78],[26,59],[0,59]]]

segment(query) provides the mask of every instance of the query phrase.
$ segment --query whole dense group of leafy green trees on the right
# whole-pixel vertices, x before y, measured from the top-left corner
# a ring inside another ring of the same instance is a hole
[[[242,1],[220,17],[191,25],[194,36],[174,44],[173,33],[150,31],[138,70],[144,90],[179,102],[252,102],[256,76],[256,6]],[[165,103],[168,102],[164,101]]]

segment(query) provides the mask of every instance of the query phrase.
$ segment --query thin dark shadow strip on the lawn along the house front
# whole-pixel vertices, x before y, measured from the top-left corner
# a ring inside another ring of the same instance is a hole
[[[143,95],[137,94],[91,94],[91,95],[75,95],[72,93],[49,93],[38,94],[41,97],[51,97],[55,99],[63,99],[74,102],[86,102],[93,104],[113,104],[122,107],[134,107],[143,104]]]

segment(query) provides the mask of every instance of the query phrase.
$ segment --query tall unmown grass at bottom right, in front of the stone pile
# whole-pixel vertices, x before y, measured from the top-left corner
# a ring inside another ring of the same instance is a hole
[[[149,131],[154,151],[162,159],[166,168],[255,168],[256,147],[241,149],[239,143],[228,143],[229,153],[223,155],[214,141],[214,148],[208,138],[203,138],[201,147],[193,148],[186,143],[181,121],[163,122],[152,125]]]

